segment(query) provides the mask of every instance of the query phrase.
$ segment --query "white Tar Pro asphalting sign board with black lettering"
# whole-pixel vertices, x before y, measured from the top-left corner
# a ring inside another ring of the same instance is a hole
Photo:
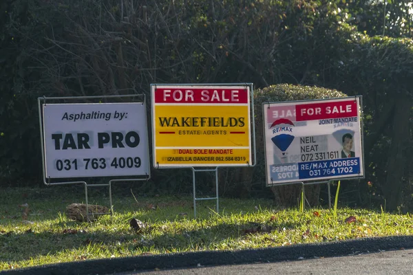
[[[45,175],[149,175],[142,102],[43,104]]]

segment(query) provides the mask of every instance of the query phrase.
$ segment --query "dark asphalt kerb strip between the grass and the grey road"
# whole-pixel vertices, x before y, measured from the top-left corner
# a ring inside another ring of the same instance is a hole
[[[197,267],[198,264],[204,266],[240,265],[246,263],[296,261],[297,259],[314,259],[315,257],[324,257],[327,259],[327,257],[333,256],[348,256],[349,254],[354,255],[379,252],[382,250],[389,251],[401,249],[413,249],[413,236],[367,238],[352,241],[335,241],[309,245],[290,245],[277,248],[240,250],[234,252],[205,251],[76,261],[56,265],[43,265],[40,267],[32,267],[30,269],[8,270],[5,272],[0,272],[0,274],[118,274],[121,272],[138,272],[156,269],[167,270],[173,268],[193,268]],[[321,259],[321,261],[325,260]],[[290,262],[290,264],[292,263],[295,262]],[[337,268],[339,269],[341,267]],[[284,274],[284,271],[282,274]],[[310,274],[310,272],[305,274]],[[403,274],[403,272],[401,274]],[[413,274],[413,270],[412,272],[409,272],[409,274]]]

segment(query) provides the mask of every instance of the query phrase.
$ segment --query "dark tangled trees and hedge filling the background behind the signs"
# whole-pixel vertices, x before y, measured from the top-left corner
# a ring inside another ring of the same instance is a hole
[[[393,164],[377,155],[411,144],[395,134],[411,129],[409,1],[5,0],[0,23],[3,179],[39,179],[39,96],[148,94],[151,83],[291,83],[363,95],[369,176],[378,192],[399,197],[385,187],[397,180],[386,170]]]

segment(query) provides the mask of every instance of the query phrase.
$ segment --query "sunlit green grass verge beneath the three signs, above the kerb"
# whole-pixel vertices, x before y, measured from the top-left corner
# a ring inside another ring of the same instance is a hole
[[[74,191],[75,189],[80,190]],[[372,236],[410,235],[410,214],[366,209],[279,209],[271,200],[139,197],[113,190],[114,216],[93,223],[71,221],[65,207],[83,202],[80,186],[9,188],[0,194],[0,271],[66,261],[201,250],[242,250]],[[27,203],[29,211],[25,212]],[[109,199],[89,192],[89,203]],[[349,217],[354,219],[347,219]],[[132,218],[146,227],[131,230]]]

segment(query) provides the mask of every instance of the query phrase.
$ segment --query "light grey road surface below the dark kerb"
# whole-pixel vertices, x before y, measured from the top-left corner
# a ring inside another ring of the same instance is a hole
[[[412,274],[413,250],[393,250],[369,254],[356,254],[323,259],[304,259],[277,263],[251,263],[247,265],[220,265],[195,267],[180,270],[160,270],[150,272],[128,272],[118,275],[262,275],[262,274]]]

